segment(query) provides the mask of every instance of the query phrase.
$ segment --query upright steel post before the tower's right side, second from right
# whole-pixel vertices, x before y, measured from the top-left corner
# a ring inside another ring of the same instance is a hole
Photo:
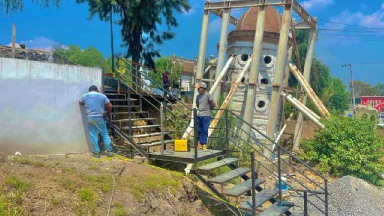
[[[275,130],[278,121],[280,121],[278,116],[278,111],[280,110],[280,91],[281,85],[283,84],[283,75],[286,69],[286,53],[288,47],[288,35],[290,30],[291,23],[291,14],[292,14],[292,4],[284,5],[283,12],[283,20],[281,22],[280,29],[280,38],[276,56],[276,69],[275,69],[275,77],[272,82],[272,95],[271,95],[271,103],[270,103],[270,113],[268,118],[268,125],[266,129],[266,135],[269,136],[272,140],[275,139]],[[269,150],[264,150],[263,155],[267,158],[271,158],[273,143],[271,141],[266,141],[266,147]]]

